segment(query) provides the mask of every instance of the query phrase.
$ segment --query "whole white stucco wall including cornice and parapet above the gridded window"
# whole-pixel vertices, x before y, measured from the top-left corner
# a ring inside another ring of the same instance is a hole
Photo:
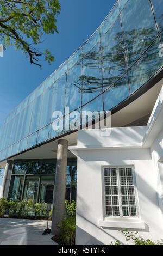
[[[126,244],[124,227],[145,239],[163,239],[163,89],[147,126],[100,131],[78,131],[77,245]],[[103,166],[133,166],[139,218],[105,218]],[[129,242],[128,242],[129,243]]]

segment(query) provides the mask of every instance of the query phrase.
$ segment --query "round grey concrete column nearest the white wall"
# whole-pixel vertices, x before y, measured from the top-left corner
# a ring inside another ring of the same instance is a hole
[[[52,235],[57,235],[58,223],[64,218],[65,194],[66,194],[66,170],[67,170],[68,141],[60,139],[58,141],[57,165],[55,173],[55,186],[53,193],[53,215],[52,215]]]

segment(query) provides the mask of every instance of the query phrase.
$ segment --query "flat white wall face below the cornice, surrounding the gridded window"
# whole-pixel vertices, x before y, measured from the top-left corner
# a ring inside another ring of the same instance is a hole
[[[157,197],[157,180],[149,149],[89,150],[78,153],[77,178],[77,245],[109,245],[116,239],[125,243],[119,228],[102,228],[99,221],[104,218],[102,166],[135,167],[140,218],[146,229],[140,235],[146,238],[163,237],[163,219]],[[118,225],[119,220],[116,221]],[[127,225],[126,225],[127,227]],[[131,228],[135,227],[131,223]],[[141,229],[134,229],[141,230]]]

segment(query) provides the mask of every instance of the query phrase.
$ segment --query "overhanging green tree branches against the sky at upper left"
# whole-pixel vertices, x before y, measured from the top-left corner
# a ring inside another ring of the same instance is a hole
[[[36,62],[42,54],[51,64],[51,52],[40,52],[33,45],[41,43],[45,34],[58,33],[56,17],[60,10],[59,0],[0,0],[0,41],[4,49],[16,46],[40,68]]]

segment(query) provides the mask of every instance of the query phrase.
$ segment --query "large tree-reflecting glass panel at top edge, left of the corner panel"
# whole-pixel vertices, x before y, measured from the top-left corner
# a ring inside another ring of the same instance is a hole
[[[158,33],[149,0],[129,1],[121,16],[127,62],[130,67],[152,43]]]

